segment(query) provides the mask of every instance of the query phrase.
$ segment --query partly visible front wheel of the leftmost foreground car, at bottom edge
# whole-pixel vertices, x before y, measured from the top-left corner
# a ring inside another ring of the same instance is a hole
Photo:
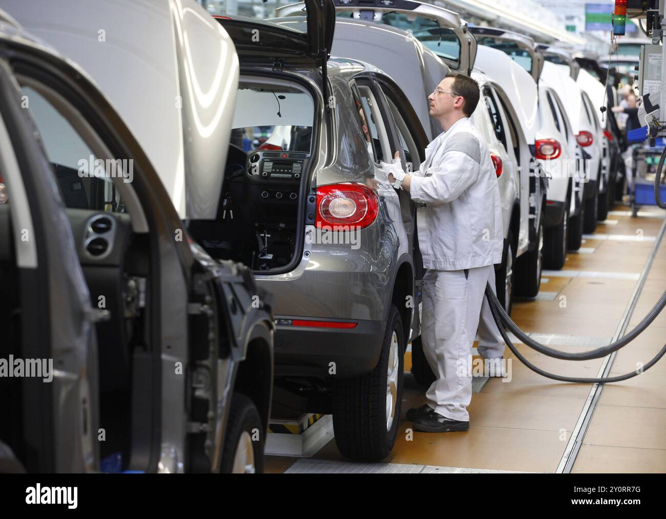
[[[264,472],[265,434],[259,412],[252,400],[241,393],[234,394],[226,423],[228,425],[220,472],[224,474]]]

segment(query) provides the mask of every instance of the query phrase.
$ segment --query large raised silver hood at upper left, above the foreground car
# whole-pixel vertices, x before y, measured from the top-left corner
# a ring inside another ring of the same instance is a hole
[[[225,121],[236,95],[228,85],[238,76],[234,45],[219,23],[194,0],[150,6],[135,0],[35,0],[3,9],[99,85],[145,150],[181,218],[214,218],[219,190],[212,193],[210,169],[220,162],[224,168],[228,146],[222,143],[230,136]],[[183,55],[186,69],[178,69],[176,54]],[[142,88],[149,94],[137,94]],[[188,105],[186,98],[194,102]],[[202,147],[211,136],[219,150]]]

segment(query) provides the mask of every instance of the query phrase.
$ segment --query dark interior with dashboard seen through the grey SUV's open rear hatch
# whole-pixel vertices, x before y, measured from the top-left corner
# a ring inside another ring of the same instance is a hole
[[[295,265],[313,121],[314,102],[302,87],[240,80],[216,218],[188,222],[210,256],[261,273]]]

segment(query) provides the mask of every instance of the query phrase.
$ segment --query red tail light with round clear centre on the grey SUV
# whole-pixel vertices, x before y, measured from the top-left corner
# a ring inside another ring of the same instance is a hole
[[[377,213],[377,195],[364,184],[344,182],[317,188],[317,227],[364,228],[375,221]]]

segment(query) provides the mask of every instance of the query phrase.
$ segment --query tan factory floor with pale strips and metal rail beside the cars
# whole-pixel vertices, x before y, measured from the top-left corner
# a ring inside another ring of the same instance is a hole
[[[513,320],[537,341],[564,351],[608,344],[658,246],[629,331],[666,289],[666,238],[657,244],[664,214],[644,207],[631,218],[626,206],[615,206],[561,270],[543,272],[536,300],[514,303]],[[613,359],[571,362],[520,343],[517,349],[541,369],[571,377],[598,377],[602,363],[612,361],[613,377],[640,370],[665,343],[666,312]],[[401,423],[388,458],[349,462],[331,439],[307,458],[266,456],[266,472],[666,472],[666,360],[627,381],[593,385],[541,377],[508,348],[505,358],[511,379],[490,379],[472,395],[468,432],[410,434],[404,414],[425,399],[408,373],[408,351]]]

